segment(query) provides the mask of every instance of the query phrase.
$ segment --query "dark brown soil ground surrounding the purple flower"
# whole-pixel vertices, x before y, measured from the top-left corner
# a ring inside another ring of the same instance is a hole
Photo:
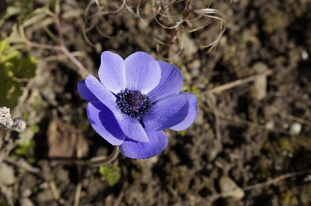
[[[113,10],[113,4],[122,4],[107,2],[112,3],[107,10]],[[8,1],[9,5],[14,3]],[[34,1],[32,8],[44,3]],[[142,4],[141,16],[152,17],[148,1],[127,1],[127,6],[136,14],[138,3]],[[187,3],[176,1],[162,6],[162,10],[185,17]],[[95,76],[102,51],[109,50],[123,58],[145,51],[163,59],[177,54],[183,43],[183,51],[169,62],[182,71],[184,90],[196,92],[198,116],[185,132],[165,131],[169,146],[158,156],[139,161],[120,154],[111,166],[120,169],[114,171],[120,179],[112,177],[116,183],[111,184],[107,181],[111,177],[100,174],[97,167],[81,165],[72,158],[77,151],[78,157],[84,159],[113,151],[113,146],[88,123],[86,101],[77,93],[77,82],[82,80],[77,66],[62,56],[47,59],[62,52],[33,48],[32,54],[45,63],[30,87],[21,113],[28,112],[28,125],[36,125],[38,130],[33,132],[33,127],[28,127],[19,134],[19,138],[35,143],[19,159],[29,162],[29,158],[34,158],[31,165],[39,172],[21,169],[15,159],[3,161],[1,167],[9,167],[6,171],[12,173],[14,182],[1,183],[0,200],[8,203],[10,198],[14,205],[23,206],[74,205],[76,191],[81,188],[79,205],[311,205],[310,173],[294,173],[311,169],[311,1],[190,3],[193,10],[208,6],[219,10],[227,23],[218,45],[209,53],[200,45],[216,39],[220,29],[217,19],[200,30],[187,32],[211,19],[202,17],[176,29],[165,29],[153,18],[140,21],[124,9],[106,14],[106,23],[100,24],[100,31],[109,36],[122,30],[116,38],[103,37],[96,26],[87,30],[92,46],[83,36],[88,2],[61,1],[65,45],[71,52],[82,51],[77,59]],[[88,15],[95,12],[97,7],[93,5]],[[193,16],[189,14],[190,17]],[[9,32],[16,18],[8,19],[3,30]],[[168,27],[176,23],[176,19],[158,19]],[[86,29],[98,21],[100,18],[92,18]],[[55,25],[48,28],[57,37]],[[161,44],[157,53],[155,38],[172,45]],[[57,45],[41,29],[29,29],[28,39]],[[206,92],[267,70],[272,70],[272,74],[256,81],[215,94]],[[295,129],[299,127],[300,131]],[[12,150],[10,156],[15,153]],[[245,189],[288,173],[293,173],[292,177]],[[225,183],[221,177],[227,177]],[[229,195],[216,195],[223,192],[222,184],[231,181],[245,189],[244,196],[238,189]]]

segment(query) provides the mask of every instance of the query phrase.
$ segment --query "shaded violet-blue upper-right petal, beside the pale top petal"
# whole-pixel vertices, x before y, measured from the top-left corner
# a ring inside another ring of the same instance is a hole
[[[158,61],[161,68],[161,81],[156,88],[148,93],[153,101],[171,94],[178,94],[182,87],[182,74],[178,68],[170,63]]]

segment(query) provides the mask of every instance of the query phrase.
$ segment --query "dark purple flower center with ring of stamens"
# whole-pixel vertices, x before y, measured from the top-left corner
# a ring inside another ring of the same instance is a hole
[[[140,116],[147,114],[151,107],[148,96],[138,91],[125,89],[117,93],[115,101],[123,114],[140,119]]]

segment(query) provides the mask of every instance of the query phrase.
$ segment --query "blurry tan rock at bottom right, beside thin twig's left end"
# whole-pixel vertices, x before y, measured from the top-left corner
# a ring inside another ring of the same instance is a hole
[[[223,194],[223,198],[234,198],[234,200],[242,200],[245,196],[245,192],[241,187],[238,187],[236,183],[229,178],[229,176],[221,176],[219,179],[219,187],[221,192],[226,192]]]

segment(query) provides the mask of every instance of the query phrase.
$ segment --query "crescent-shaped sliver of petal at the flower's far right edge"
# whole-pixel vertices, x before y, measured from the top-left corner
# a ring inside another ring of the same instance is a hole
[[[188,127],[194,123],[194,120],[196,119],[196,114],[198,113],[198,99],[196,99],[196,95],[185,92],[183,94],[186,94],[188,101],[189,101],[189,112],[187,117],[179,123],[178,125],[175,125],[171,127],[171,130],[181,131],[186,130]]]

